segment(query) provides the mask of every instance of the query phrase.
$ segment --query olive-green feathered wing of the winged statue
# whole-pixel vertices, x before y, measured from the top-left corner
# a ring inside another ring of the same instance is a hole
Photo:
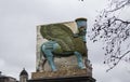
[[[44,25],[40,28],[40,33],[48,40],[56,41],[63,51],[74,51],[74,33],[72,29],[63,24]]]

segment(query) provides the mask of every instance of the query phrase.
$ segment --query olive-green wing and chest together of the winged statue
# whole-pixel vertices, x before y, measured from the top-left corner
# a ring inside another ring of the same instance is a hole
[[[57,52],[78,51],[82,55],[87,54],[86,43],[80,38],[74,38],[72,29],[63,24],[41,26],[40,33],[43,38],[56,41],[61,45]]]

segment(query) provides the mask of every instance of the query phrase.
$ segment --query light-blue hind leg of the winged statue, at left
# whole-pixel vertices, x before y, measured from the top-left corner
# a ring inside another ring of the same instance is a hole
[[[54,65],[54,57],[51,50],[44,50],[43,53],[48,59],[49,65],[51,66],[52,71],[56,71],[56,67]]]

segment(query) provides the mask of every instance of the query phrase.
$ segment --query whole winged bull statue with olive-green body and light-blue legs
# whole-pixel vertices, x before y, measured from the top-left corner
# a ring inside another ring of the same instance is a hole
[[[41,52],[47,58],[52,71],[57,68],[54,64],[54,57],[66,57],[75,55],[77,57],[78,67],[86,68],[82,56],[87,56],[86,33],[87,20],[77,19],[78,33],[74,33],[72,29],[63,24],[50,24],[41,26],[40,33],[48,40],[41,45]]]

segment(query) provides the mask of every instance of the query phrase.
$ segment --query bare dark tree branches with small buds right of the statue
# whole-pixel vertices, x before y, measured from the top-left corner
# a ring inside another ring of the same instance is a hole
[[[123,10],[128,4],[130,4],[130,0],[110,0],[109,8],[104,9],[96,17],[92,33],[89,36],[93,42],[102,40],[105,43],[103,47],[105,50],[104,64],[109,66],[106,71],[113,69],[123,58],[127,58],[127,62],[130,60],[130,56],[128,56],[130,55],[130,42],[128,42],[130,40],[130,22],[117,16],[119,13],[117,11]],[[126,53],[123,53],[125,51]]]

